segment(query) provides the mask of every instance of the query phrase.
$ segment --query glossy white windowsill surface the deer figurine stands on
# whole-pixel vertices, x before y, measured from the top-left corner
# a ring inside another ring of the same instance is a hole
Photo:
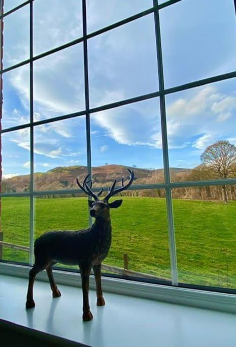
[[[25,309],[27,279],[0,275],[0,319],[94,347],[235,344],[235,316],[125,295],[105,293],[96,306],[90,290],[91,322],[82,321],[82,291],[60,285],[53,299],[49,284],[35,283],[36,307]],[[78,344],[80,345],[80,344]]]

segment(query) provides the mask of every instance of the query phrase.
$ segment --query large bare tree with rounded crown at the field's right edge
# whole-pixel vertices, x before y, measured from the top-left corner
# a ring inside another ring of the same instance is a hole
[[[215,178],[233,177],[236,165],[236,147],[226,140],[220,140],[208,146],[200,160],[207,168],[211,169]],[[227,202],[226,185],[222,187],[223,200]]]

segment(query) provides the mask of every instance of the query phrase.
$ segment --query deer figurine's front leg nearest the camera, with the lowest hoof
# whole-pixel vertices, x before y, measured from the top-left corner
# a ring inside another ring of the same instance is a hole
[[[88,290],[89,290],[89,275],[91,266],[88,264],[79,264],[80,274],[82,279],[82,290],[83,290],[83,321],[91,321],[92,313],[89,307]]]

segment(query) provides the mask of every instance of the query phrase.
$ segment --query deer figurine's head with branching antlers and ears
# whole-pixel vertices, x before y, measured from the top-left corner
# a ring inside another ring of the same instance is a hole
[[[115,185],[116,185],[116,180],[115,180],[113,182],[108,194],[102,200],[99,199],[99,196],[103,193],[103,188],[97,194],[95,194],[92,191],[92,180],[88,180],[89,174],[85,177],[83,184],[81,184],[79,182],[78,178],[76,178],[77,184],[79,185],[80,189],[85,194],[87,194],[88,196],[93,198],[93,200],[88,200],[88,204],[90,207],[90,215],[92,217],[98,218],[98,219],[107,219],[110,216],[110,208],[117,208],[122,204],[123,200],[121,200],[121,199],[115,200],[111,203],[109,203],[109,199],[113,195],[126,190],[132,184],[132,181],[134,178],[134,173],[133,173],[133,171],[131,171],[129,169],[127,169],[127,170],[130,174],[129,182],[124,185],[124,178],[122,178],[121,187],[115,189]]]

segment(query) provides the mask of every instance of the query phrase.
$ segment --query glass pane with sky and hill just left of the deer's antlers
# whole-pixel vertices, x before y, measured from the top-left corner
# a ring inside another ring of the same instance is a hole
[[[78,188],[76,177],[87,174],[85,116],[38,125],[34,140],[35,190]]]

